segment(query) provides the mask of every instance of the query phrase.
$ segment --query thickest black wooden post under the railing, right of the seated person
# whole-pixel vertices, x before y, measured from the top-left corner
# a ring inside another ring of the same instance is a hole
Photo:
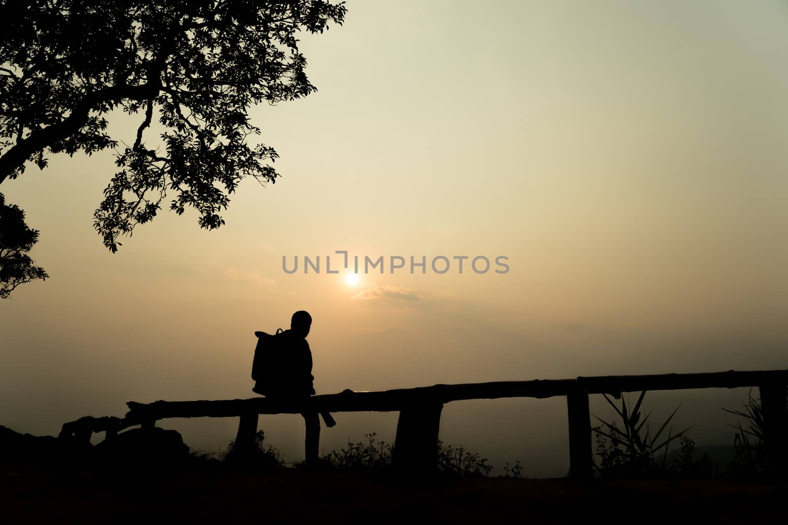
[[[426,401],[400,410],[393,462],[400,471],[437,471],[438,433],[443,403]]]

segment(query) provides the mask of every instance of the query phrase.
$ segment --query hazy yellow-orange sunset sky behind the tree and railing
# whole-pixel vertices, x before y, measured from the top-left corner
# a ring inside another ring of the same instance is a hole
[[[2,184],[51,277],[0,302],[0,424],[57,434],[126,401],[251,397],[253,332],[298,309],[318,393],[788,367],[788,3],[347,5],[303,38],[318,92],[251,110],[282,177],[244,181],[217,231],[162,213],[108,253],[92,213],[112,153]],[[137,124],[111,131],[132,142]],[[386,273],[326,275],[334,250]],[[322,272],[285,274],[283,255]],[[426,274],[388,273],[396,255]],[[511,269],[437,275],[437,255]],[[720,408],[746,390],[649,400],[656,418],[684,401],[677,424],[727,444]],[[396,427],[336,420],[325,451]],[[162,425],[210,450],[237,420]],[[299,416],[260,427],[303,457]],[[565,473],[566,433],[563,398],[449,404],[441,427],[527,475]]]

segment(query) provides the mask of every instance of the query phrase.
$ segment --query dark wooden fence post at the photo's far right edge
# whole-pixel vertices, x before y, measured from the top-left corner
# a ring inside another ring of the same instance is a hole
[[[772,471],[784,475],[788,469],[788,389],[785,384],[758,387],[764,416],[764,445]]]

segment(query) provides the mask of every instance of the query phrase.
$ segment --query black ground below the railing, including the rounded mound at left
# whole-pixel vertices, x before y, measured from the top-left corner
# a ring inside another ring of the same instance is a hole
[[[248,464],[240,464],[248,468]],[[0,523],[785,523],[788,482],[244,474],[152,429],[80,445],[0,427]],[[771,517],[774,516],[774,517]]]

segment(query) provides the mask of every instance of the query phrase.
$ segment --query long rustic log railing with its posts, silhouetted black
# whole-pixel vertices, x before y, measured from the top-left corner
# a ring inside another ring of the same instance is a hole
[[[783,466],[788,448],[788,407],[786,407],[788,370],[758,372],[712,372],[704,374],[609,375],[576,379],[537,379],[434,385],[382,391],[344,390],[305,401],[280,401],[255,397],[221,401],[129,401],[125,418],[84,417],[65,423],[61,437],[88,440],[92,432],[106,431],[113,438],[118,431],[141,425],[154,427],[157,420],[171,417],[240,417],[236,443],[254,439],[259,414],[298,414],[301,412],[400,412],[394,442],[394,461],[408,469],[428,471],[437,464],[437,439],[440,412],[451,401],[496,399],[500,397],[567,397],[570,475],[593,475],[592,430],[589,394],[610,394],[642,390],[685,390],[697,388],[737,388],[756,386],[764,412],[770,457]]]

